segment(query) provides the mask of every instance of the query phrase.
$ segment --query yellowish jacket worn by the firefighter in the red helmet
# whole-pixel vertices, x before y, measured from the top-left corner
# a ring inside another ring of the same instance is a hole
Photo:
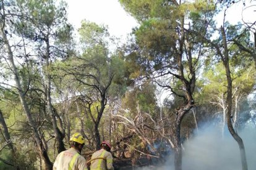
[[[110,152],[106,151],[105,149],[101,149],[93,153],[92,159],[94,158],[105,158],[94,160],[91,163],[91,170],[114,170],[113,167],[113,156]]]

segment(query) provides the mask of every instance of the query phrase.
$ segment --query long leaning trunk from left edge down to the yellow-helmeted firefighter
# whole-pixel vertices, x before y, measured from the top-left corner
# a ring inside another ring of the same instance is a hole
[[[14,55],[12,53],[11,45],[9,44],[6,33],[4,33],[4,26],[1,25],[0,31],[1,31],[1,35],[2,35],[2,40],[5,42],[6,50],[7,50],[7,53],[8,53],[8,60],[10,62],[10,68],[11,68],[12,73],[14,75],[14,81],[15,81],[16,87],[18,89],[20,102],[21,102],[21,105],[23,107],[23,110],[25,111],[25,114],[27,115],[28,123],[30,124],[30,127],[32,129],[33,138],[35,139],[36,145],[38,147],[38,152],[40,153],[40,155],[43,156],[43,164],[45,165],[45,169],[52,169],[53,164],[49,160],[48,154],[47,154],[45,148],[43,147],[43,142],[40,138],[40,134],[38,133],[36,123],[35,123],[35,121],[32,117],[32,114],[30,113],[30,110],[28,108],[28,104],[25,100],[25,93],[22,90],[22,85],[20,83],[20,77],[19,77],[16,65],[14,63]]]

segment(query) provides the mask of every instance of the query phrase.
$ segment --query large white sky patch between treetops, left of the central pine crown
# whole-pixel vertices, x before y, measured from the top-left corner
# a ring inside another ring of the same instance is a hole
[[[66,0],[68,19],[80,28],[81,21],[86,19],[97,24],[108,25],[111,35],[126,38],[138,23],[121,7],[118,0]]]

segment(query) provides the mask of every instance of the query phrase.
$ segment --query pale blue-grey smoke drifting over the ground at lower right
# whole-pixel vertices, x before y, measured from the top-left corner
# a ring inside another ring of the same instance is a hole
[[[216,125],[205,125],[198,129],[192,139],[184,142],[182,157],[183,170],[236,170],[242,169],[240,151],[237,142],[225,128],[224,137]],[[245,145],[248,169],[256,168],[256,129],[247,126],[238,132]],[[156,168],[139,168],[140,170],[174,169],[174,155],[170,155],[166,164]],[[138,170],[139,170],[138,169]]]

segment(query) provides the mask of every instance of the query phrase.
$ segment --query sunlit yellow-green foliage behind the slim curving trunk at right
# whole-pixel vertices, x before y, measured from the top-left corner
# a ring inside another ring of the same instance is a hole
[[[242,94],[250,94],[255,84],[255,69],[253,67],[244,69],[239,67],[239,65],[233,65],[231,71],[233,76],[233,92],[239,89]],[[213,102],[217,101],[218,97],[221,98],[222,95],[226,96],[226,72],[222,63],[217,63],[214,67],[207,68],[203,73],[202,80],[198,81],[197,86],[201,87],[200,91],[195,95],[198,103]]]

